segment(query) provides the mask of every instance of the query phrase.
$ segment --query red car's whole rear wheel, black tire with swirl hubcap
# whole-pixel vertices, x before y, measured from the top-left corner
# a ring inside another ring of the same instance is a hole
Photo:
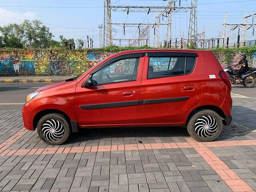
[[[222,131],[222,119],[213,110],[200,110],[192,115],[187,130],[190,136],[200,142],[216,139]]]

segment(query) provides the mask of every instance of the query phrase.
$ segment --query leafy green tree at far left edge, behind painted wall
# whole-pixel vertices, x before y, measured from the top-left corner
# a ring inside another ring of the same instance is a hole
[[[8,24],[0,27],[0,47],[23,48],[24,30],[18,24]]]

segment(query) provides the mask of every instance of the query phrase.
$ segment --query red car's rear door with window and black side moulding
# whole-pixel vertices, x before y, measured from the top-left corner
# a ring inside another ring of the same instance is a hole
[[[185,123],[200,104],[202,60],[195,52],[147,52],[141,88],[140,123]]]

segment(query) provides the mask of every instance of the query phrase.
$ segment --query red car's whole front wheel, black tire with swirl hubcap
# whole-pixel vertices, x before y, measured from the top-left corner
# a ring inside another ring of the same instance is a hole
[[[71,135],[69,122],[64,115],[58,113],[43,116],[38,121],[37,132],[40,138],[49,145],[63,144]]]

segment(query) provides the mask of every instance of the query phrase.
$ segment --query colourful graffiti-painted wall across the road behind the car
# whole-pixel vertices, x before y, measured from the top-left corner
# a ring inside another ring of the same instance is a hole
[[[77,75],[84,73],[112,52],[85,50],[0,50],[0,76],[14,75]],[[226,64],[224,54],[215,52],[223,67],[239,62],[241,52],[234,51],[232,62]],[[248,56],[256,67],[256,52]]]

